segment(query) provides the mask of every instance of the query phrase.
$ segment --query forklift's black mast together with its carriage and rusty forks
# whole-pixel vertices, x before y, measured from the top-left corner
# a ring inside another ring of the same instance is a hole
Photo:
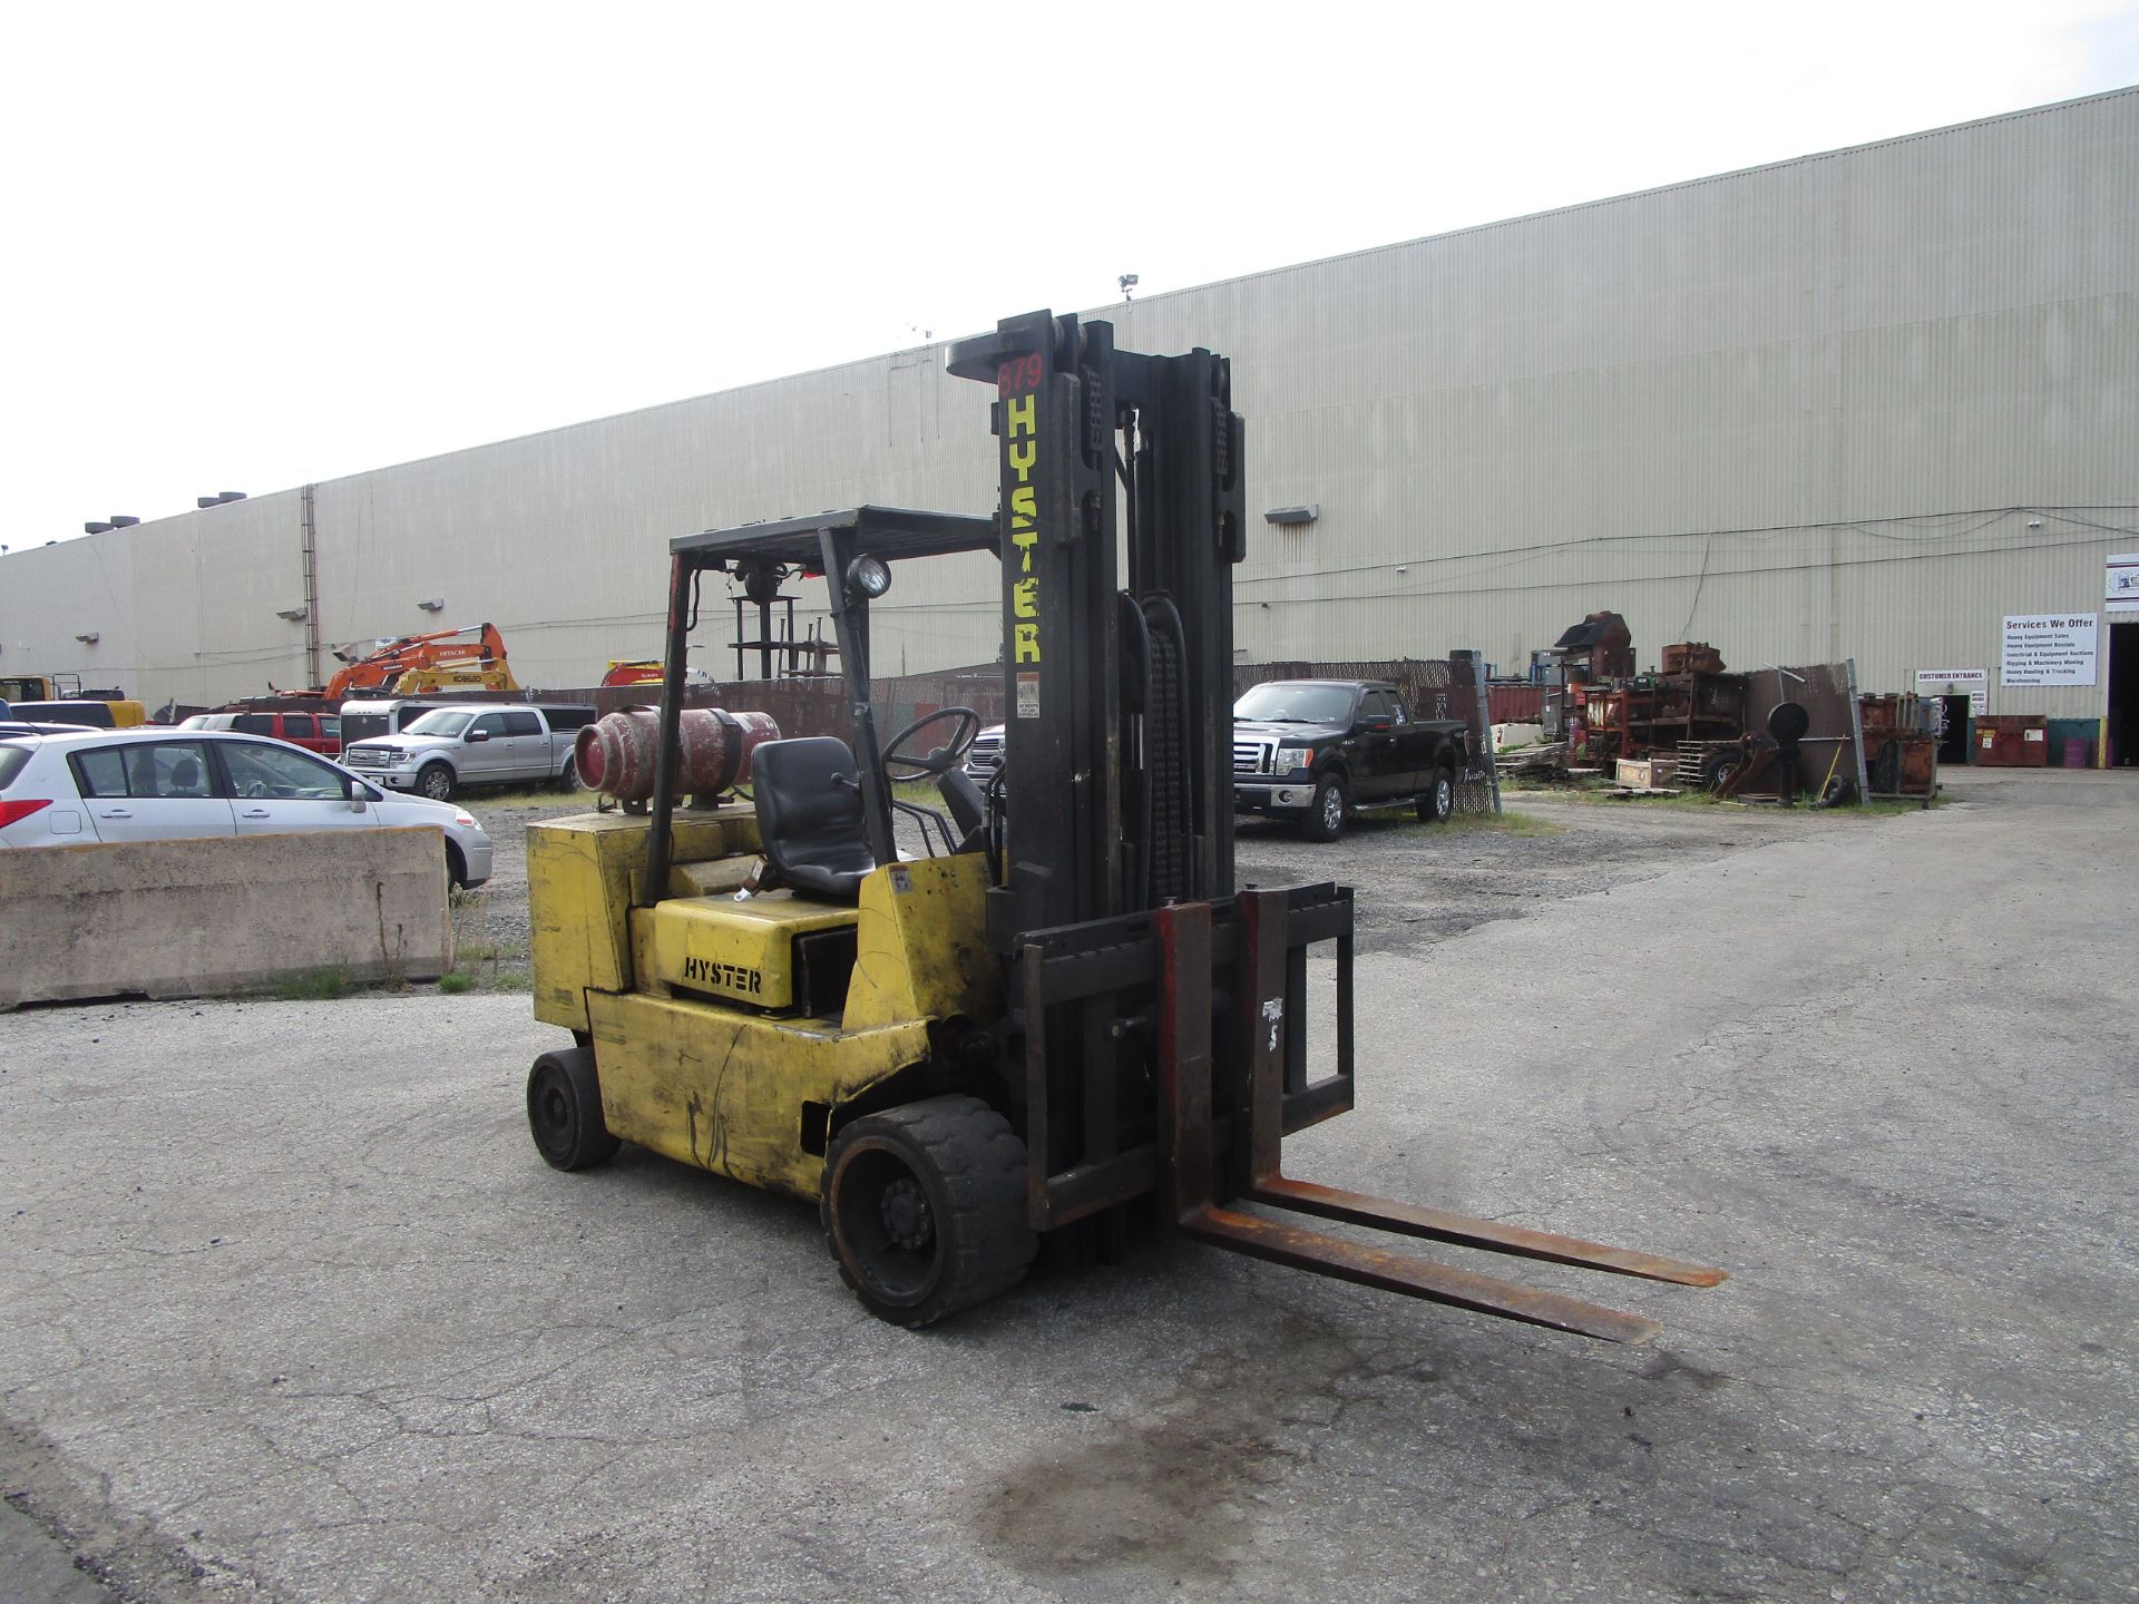
[[[1510,1320],[1641,1341],[1638,1315],[1243,1213],[1262,1204],[1645,1279],[1720,1270],[1296,1181],[1286,1136],[1354,1104],[1352,892],[1234,890],[1232,368],[1029,312],[952,346],[995,385],[1007,840],[988,892],[1027,1219],[1119,1240],[1123,1208],[1217,1247]],[[1309,954],[1335,1044],[1311,1054]],[[1320,1074],[1318,1074],[1320,1071]]]

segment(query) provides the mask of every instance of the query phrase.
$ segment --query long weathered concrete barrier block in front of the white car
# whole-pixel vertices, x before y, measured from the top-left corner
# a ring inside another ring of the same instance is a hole
[[[338,969],[453,965],[436,830],[0,849],[0,1012],[71,997],[207,997]]]

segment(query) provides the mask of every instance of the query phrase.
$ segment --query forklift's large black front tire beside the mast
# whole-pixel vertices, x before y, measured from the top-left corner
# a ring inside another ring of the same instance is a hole
[[[824,1234],[877,1320],[928,1326],[1025,1279],[1025,1142],[978,1097],[864,1114],[824,1159]]]

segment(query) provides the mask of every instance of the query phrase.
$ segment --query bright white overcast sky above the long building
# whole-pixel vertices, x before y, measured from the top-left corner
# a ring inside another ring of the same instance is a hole
[[[2139,0],[11,6],[0,545],[2135,81]]]

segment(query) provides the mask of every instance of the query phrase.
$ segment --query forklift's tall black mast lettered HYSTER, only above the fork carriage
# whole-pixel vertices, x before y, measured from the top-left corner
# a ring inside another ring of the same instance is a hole
[[[1232,368],[1027,312],[952,346],[995,385],[1005,768],[995,950],[1029,930],[1232,894]],[[1050,798],[1050,806],[1018,806]]]

